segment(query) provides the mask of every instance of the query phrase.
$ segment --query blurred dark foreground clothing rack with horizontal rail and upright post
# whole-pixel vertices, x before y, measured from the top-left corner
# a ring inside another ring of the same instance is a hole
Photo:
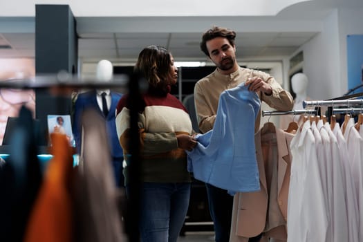
[[[110,82],[100,82],[95,79],[81,80],[75,75],[68,73],[58,73],[57,75],[37,75],[32,79],[19,80],[1,80],[1,89],[56,89],[57,94],[69,95],[70,91],[77,89],[125,89],[129,93],[129,102],[132,104],[130,108],[130,177],[132,184],[127,201],[127,214],[125,216],[125,232],[128,235],[128,241],[140,241],[138,230],[138,212],[140,195],[140,180],[138,160],[140,160],[139,149],[140,142],[138,140],[138,102],[140,102],[140,94],[147,90],[148,83],[145,78],[134,74],[130,78],[127,75],[113,75]]]

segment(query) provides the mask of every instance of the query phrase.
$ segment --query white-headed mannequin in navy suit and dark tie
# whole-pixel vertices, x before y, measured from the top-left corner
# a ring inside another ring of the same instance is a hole
[[[95,78],[98,82],[111,82],[113,80],[113,65],[109,60],[102,59],[97,63]],[[106,93],[106,104],[102,103],[102,93]],[[120,100],[121,97],[121,93],[111,91],[110,89],[97,89],[80,93],[75,101],[73,118],[73,133],[75,135],[75,143],[79,153],[82,145],[81,118],[83,111],[86,109],[95,109],[97,113],[104,118],[107,128],[107,136],[109,138],[115,183],[118,187],[122,187],[124,184],[124,178],[122,175],[122,161],[124,160],[123,151],[120,142],[118,141],[115,126],[115,109],[118,104],[118,100]],[[106,112],[103,108],[104,105],[106,105]]]

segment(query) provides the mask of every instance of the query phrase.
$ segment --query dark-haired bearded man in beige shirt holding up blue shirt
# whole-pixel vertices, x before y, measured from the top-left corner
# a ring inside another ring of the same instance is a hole
[[[215,26],[207,30],[202,37],[201,50],[216,65],[216,70],[202,78],[194,87],[196,114],[201,133],[213,129],[216,119],[219,95],[226,89],[232,89],[241,82],[249,85],[249,90],[259,95],[260,100],[274,109],[288,111],[293,100],[288,91],[274,80],[274,77],[261,71],[241,68],[236,62],[236,32]],[[254,124],[256,133],[260,127],[261,110]],[[227,191],[205,184],[207,187],[210,214],[214,222],[216,242],[230,240],[233,196]],[[250,238],[259,241],[260,236]]]

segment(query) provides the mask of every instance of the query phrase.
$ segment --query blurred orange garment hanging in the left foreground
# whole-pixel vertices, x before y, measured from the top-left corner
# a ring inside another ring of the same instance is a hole
[[[72,201],[69,192],[73,152],[64,134],[52,133],[52,155],[38,198],[30,213],[24,241],[72,241]]]

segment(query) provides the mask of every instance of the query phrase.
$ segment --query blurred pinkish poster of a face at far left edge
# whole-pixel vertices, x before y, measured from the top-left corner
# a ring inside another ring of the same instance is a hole
[[[17,82],[32,77],[35,77],[35,59],[0,59],[0,82]],[[32,111],[35,118],[35,91],[0,89],[0,145],[8,117],[17,117],[23,104]]]

